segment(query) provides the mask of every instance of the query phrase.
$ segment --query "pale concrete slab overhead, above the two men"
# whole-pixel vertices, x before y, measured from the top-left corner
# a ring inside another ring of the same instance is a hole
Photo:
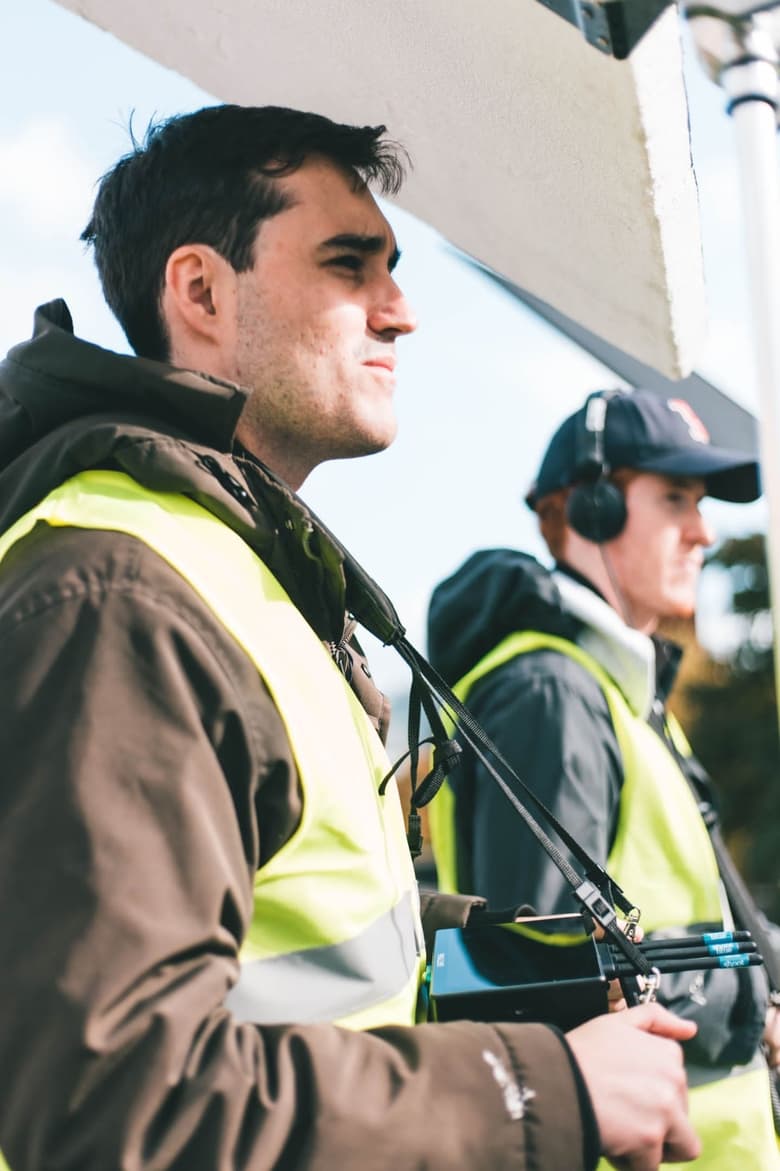
[[[217,98],[385,123],[402,206],[670,377],[704,337],[678,15],[616,61],[536,0],[60,0]]]

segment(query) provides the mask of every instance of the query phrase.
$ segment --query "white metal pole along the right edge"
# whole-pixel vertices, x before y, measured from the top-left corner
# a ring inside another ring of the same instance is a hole
[[[759,398],[761,480],[767,502],[767,566],[780,700],[780,172],[775,18],[721,18],[689,8],[697,48],[726,95],[737,135]],[[776,7],[776,6],[773,6]],[[714,28],[719,23],[720,28]],[[780,704],[778,705],[780,720]]]

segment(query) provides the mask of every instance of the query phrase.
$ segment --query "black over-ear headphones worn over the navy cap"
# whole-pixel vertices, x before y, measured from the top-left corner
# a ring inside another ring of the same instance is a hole
[[[609,402],[618,390],[597,390],[589,395],[576,420],[573,488],[566,501],[566,516],[586,541],[603,545],[625,525],[625,497],[609,479],[604,454],[604,430]]]

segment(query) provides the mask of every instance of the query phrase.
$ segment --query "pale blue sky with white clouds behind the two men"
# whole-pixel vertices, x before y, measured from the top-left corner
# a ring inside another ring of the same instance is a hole
[[[132,111],[141,131],[151,116],[214,97],[52,0],[5,4],[0,34],[0,351],[27,336],[34,307],[55,296],[68,301],[78,334],[126,350],[78,241],[95,180],[128,149]],[[710,309],[697,369],[754,408],[733,128],[687,40],[686,57]],[[385,210],[420,322],[399,345],[399,437],[381,456],[317,470],[303,495],[420,644],[431,588],[475,548],[541,554],[522,492],[557,422],[617,379],[465,266],[432,228]],[[720,534],[765,523],[762,504],[709,507]],[[705,634],[717,607],[710,593]],[[404,678],[386,656],[375,670],[390,690]]]

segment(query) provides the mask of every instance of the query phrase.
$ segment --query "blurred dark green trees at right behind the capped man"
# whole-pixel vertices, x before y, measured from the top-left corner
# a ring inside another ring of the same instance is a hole
[[[780,742],[764,537],[732,537],[707,557],[725,574],[733,651],[704,656],[684,685],[686,728],[719,796],[724,836],[766,913],[780,922]]]

